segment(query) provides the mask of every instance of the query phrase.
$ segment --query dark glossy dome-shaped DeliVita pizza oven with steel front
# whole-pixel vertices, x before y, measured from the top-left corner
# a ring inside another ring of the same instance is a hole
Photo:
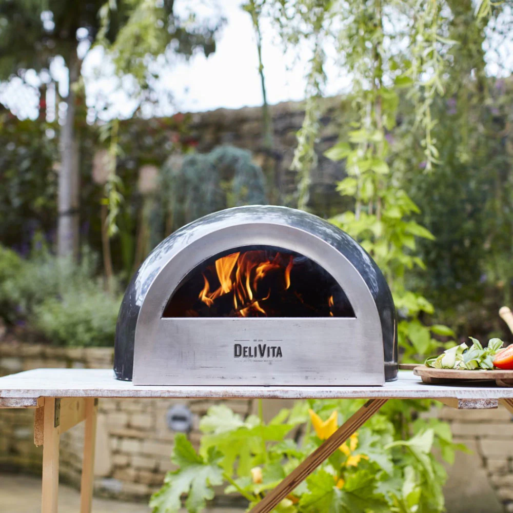
[[[342,230],[286,207],[223,210],[177,230],[135,273],[116,378],[145,385],[382,385],[396,312]]]

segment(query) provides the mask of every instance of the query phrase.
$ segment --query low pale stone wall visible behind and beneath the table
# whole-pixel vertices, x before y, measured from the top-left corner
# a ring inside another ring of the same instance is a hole
[[[109,348],[55,348],[0,342],[0,376],[33,368],[112,368]],[[166,422],[172,405],[187,405],[193,414],[190,438],[198,446],[199,419],[213,401],[168,399],[103,399],[99,404],[96,438],[95,492],[116,498],[147,500],[172,469],[174,432]],[[282,401],[265,404],[266,417]],[[245,416],[251,401],[229,406]],[[471,454],[458,453],[448,468],[446,502],[449,513],[513,512],[513,422],[497,410],[433,409],[431,415],[451,424],[455,441]],[[0,410],[0,469],[41,472],[43,451],[33,443],[33,410]],[[83,425],[61,437],[61,478],[78,485],[82,467]]]

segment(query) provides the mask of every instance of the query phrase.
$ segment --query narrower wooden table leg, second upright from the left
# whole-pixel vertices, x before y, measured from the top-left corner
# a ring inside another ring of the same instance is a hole
[[[82,461],[82,481],[80,486],[80,513],[91,513],[98,400],[88,398],[85,401],[86,427],[84,435],[84,458]]]

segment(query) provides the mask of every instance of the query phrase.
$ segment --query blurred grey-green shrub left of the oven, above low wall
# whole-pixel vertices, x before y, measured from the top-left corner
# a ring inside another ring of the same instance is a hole
[[[88,250],[75,264],[44,246],[27,259],[0,246],[0,317],[57,345],[113,345],[121,296],[104,290],[96,269]]]

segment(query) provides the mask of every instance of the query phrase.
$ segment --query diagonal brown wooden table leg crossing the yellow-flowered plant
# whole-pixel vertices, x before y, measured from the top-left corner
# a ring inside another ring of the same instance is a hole
[[[292,490],[304,481],[323,461],[328,459],[357,429],[359,429],[387,399],[370,399],[354,415],[347,419],[322,445],[307,456],[289,475],[271,490],[249,513],[269,513]]]

